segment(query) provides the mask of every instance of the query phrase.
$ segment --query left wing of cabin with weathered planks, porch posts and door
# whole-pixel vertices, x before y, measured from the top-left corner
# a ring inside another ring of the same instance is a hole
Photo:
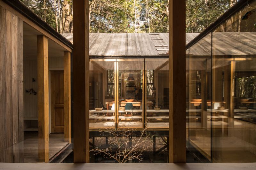
[[[0,18],[0,162],[48,162],[71,146],[73,45],[19,1]]]

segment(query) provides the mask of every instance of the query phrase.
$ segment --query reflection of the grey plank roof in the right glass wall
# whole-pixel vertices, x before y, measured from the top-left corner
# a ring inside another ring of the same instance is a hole
[[[188,48],[193,56],[241,56],[256,54],[256,32],[214,32]],[[211,54],[212,49],[212,54]]]

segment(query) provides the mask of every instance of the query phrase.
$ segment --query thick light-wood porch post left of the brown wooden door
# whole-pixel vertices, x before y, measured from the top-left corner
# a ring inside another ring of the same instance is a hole
[[[48,39],[37,36],[38,161],[49,161]]]

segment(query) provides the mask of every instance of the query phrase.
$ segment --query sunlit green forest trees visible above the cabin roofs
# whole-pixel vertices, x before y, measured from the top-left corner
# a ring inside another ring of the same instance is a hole
[[[72,0],[20,0],[60,33],[73,32]],[[89,0],[90,32],[168,32],[168,0]],[[186,0],[186,32],[202,32],[236,0]]]

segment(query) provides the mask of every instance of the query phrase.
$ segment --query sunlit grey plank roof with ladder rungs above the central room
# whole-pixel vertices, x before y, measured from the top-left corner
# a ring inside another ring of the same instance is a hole
[[[198,34],[187,33],[186,43],[190,42]],[[62,35],[73,43],[73,34]],[[168,56],[168,54],[159,54],[167,51],[169,51],[169,33],[90,33],[90,57]]]

